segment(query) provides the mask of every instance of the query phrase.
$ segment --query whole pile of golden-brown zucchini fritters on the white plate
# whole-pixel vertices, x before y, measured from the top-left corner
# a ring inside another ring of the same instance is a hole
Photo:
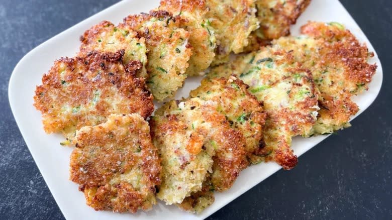
[[[76,57],[44,74],[34,106],[47,133],[75,146],[70,179],[86,203],[136,212],[157,197],[199,213],[252,164],[295,167],[292,137],[349,127],[373,54],[339,23],[288,36],[309,3],[163,0],[85,31]],[[153,99],[166,101],[154,116]]]

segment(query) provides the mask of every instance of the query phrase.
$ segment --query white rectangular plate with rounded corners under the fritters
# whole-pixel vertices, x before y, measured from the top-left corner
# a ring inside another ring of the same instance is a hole
[[[162,202],[155,205],[151,211],[139,211],[136,214],[94,211],[85,204],[83,193],[69,180],[68,163],[72,148],[61,147],[59,143],[63,138],[60,135],[47,135],[42,129],[41,114],[33,107],[35,87],[41,84],[42,74],[50,69],[55,59],[75,55],[79,48],[79,36],[86,29],[102,20],[117,24],[129,14],[148,12],[158,4],[159,0],[120,2],[41,44],[28,53],[12,73],[9,98],[16,122],[53,197],[67,219],[204,219],[280,169],[275,163],[262,163],[247,168],[230,190],[215,193],[214,204],[199,215],[189,214]],[[366,36],[338,0],[313,0],[297,25],[292,27],[292,34],[298,35],[299,27],[308,20],[342,23],[361,42],[366,43],[370,51],[374,51]],[[372,103],[381,88],[382,69],[377,54],[370,62],[377,63],[378,69],[369,85],[369,91],[354,98],[361,109],[357,115]],[[189,90],[197,87],[199,82],[200,77],[187,79],[177,97],[187,97]],[[292,148],[300,156],[327,137],[298,137],[293,140]]]

